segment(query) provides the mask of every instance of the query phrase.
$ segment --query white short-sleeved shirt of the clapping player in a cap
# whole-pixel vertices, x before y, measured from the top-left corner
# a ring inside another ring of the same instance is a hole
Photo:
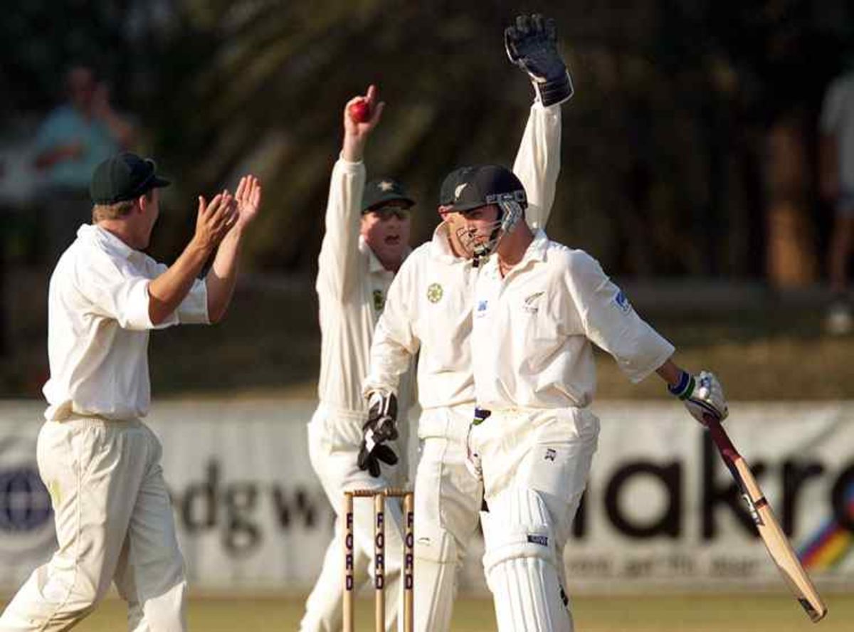
[[[166,270],[100,226],[80,226],[50,277],[45,418],[149,412],[149,330],[208,323],[208,290],[196,279],[175,313],[152,325],[149,283]]]

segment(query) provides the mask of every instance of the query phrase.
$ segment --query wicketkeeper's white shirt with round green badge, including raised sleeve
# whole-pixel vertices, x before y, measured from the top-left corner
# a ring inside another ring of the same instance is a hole
[[[513,172],[524,184],[531,227],[547,223],[560,171],[560,106],[530,108]],[[418,354],[422,408],[473,404],[471,293],[477,271],[453,255],[447,225],[407,257],[389,288],[371,346],[365,389],[397,390],[398,376]]]

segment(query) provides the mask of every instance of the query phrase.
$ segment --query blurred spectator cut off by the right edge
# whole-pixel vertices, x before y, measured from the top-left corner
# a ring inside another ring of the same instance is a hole
[[[819,120],[822,197],[834,207],[834,226],[828,252],[830,289],[834,294],[826,327],[836,335],[854,326],[847,294],[848,264],[854,237],[854,70],[829,85]]]

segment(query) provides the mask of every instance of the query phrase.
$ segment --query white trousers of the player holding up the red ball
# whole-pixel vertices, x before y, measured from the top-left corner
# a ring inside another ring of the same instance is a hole
[[[300,622],[303,632],[340,632],[342,626],[342,588],[344,581],[344,541],[341,510],[346,489],[384,489],[402,487],[406,482],[406,424],[401,424],[401,438],[391,448],[400,462],[391,467],[383,464],[383,476],[371,477],[359,469],[356,459],[362,438],[363,413],[335,410],[321,404],[308,424],[308,457],[326,496],[335,509],[335,535],[326,549],[323,568],[306,601],[306,612]],[[373,502],[354,499],[354,580],[358,587],[373,571]],[[398,617],[403,595],[403,535],[401,504],[389,498],[385,512],[385,623],[387,630],[402,628]]]

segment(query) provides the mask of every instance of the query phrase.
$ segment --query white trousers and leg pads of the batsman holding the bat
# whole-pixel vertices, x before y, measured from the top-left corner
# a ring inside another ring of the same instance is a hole
[[[564,546],[599,438],[587,408],[493,411],[471,427],[488,512],[484,572],[500,632],[571,632]]]

